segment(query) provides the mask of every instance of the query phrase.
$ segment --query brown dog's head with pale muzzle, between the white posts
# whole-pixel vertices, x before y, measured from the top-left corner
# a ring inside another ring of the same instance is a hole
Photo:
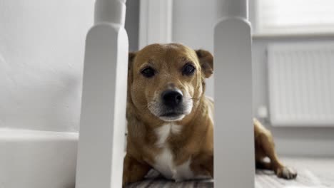
[[[129,54],[128,100],[141,116],[179,121],[203,97],[213,56],[177,43],[152,44]]]

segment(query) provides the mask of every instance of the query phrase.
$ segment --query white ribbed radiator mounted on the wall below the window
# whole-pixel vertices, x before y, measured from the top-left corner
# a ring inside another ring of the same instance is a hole
[[[334,126],[334,43],[268,46],[273,126]]]

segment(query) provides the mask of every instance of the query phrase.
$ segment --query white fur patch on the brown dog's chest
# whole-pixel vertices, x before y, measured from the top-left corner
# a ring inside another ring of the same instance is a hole
[[[166,142],[169,135],[178,134],[181,132],[181,129],[181,125],[175,125],[173,122],[168,122],[156,129],[156,135],[158,137],[156,145],[161,148],[161,152],[155,157],[153,167],[163,174],[164,177],[175,179],[176,181],[194,178],[194,174],[190,169],[191,159],[176,166],[173,160],[173,154]]]

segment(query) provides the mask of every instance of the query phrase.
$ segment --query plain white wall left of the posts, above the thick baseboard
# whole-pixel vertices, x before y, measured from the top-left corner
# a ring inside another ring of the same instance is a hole
[[[78,130],[93,0],[0,0],[0,127]]]

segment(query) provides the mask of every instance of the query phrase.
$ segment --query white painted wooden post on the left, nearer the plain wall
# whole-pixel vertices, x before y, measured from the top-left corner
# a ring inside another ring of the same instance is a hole
[[[76,188],[122,184],[128,36],[126,0],[97,0],[86,37]]]

